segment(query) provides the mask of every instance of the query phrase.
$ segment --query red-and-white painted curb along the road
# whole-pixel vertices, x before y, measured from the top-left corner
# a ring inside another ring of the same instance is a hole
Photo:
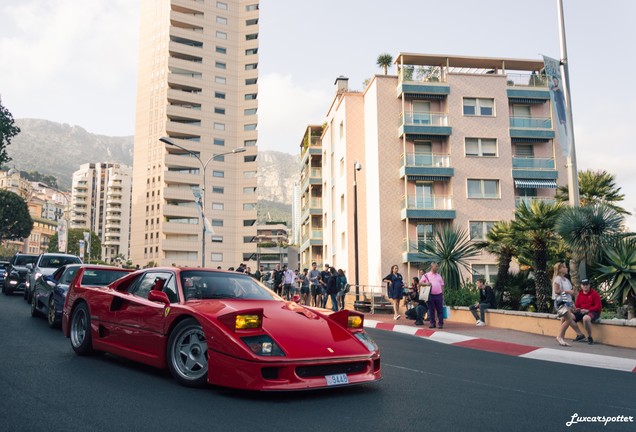
[[[500,342],[432,329],[416,328],[400,324],[388,324],[369,319],[364,320],[364,326],[366,328],[409,334],[447,345],[455,345],[480,351],[489,351],[533,360],[543,360],[555,363],[566,363],[570,365],[636,373],[636,360],[632,359],[557,350],[552,348],[539,348],[530,345]]]

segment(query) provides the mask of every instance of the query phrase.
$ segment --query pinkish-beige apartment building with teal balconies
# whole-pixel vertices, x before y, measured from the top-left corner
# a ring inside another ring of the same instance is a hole
[[[521,201],[552,200],[567,182],[541,60],[400,53],[395,63],[396,75],[376,75],[363,92],[336,80],[320,144],[302,153],[305,174],[321,166],[321,187],[303,189],[303,214],[318,214],[320,190],[322,221],[303,219],[301,260],[321,249],[353,280],[360,161],[359,283],[377,287],[392,264],[416,275],[418,245],[442,226],[482,240]],[[320,222],[318,243],[310,233]],[[471,272],[492,280],[495,258],[472,259]]]

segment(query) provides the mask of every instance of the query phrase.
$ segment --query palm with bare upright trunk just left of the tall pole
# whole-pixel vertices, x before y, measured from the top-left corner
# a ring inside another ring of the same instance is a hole
[[[521,202],[512,222],[514,236],[532,249],[532,266],[539,312],[549,310],[552,295],[550,278],[547,274],[548,248],[556,242],[554,225],[561,212],[560,204],[532,201],[530,205]]]

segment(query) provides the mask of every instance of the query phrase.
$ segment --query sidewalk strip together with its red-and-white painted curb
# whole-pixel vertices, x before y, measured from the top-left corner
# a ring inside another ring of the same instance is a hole
[[[595,343],[572,342],[571,331],[566,341],[571,347],[561,347],[551,336],[541,336],[515,330],[444,321],[444,329],[429,329],[428,321],[416,326],[404,316],[394,320],[390,314],[365,314],[364,326],[424,337],[436,342],[580,366],[636,372],[636,350]]]

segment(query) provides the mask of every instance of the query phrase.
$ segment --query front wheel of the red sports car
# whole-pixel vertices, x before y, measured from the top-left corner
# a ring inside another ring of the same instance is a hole
[[[208,345],[203,328],[192,318],[181,321],[168,338],[170,373],[181,385],[202,387],[208,381]]]

